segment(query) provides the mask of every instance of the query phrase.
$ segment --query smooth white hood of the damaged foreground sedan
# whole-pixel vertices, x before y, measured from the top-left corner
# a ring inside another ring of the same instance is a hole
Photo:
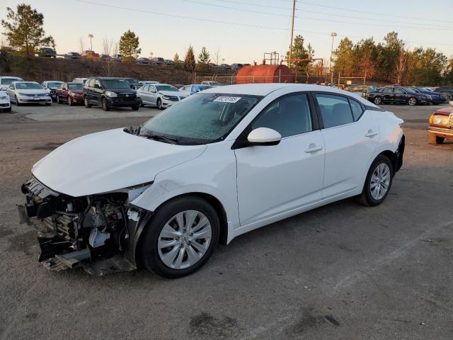
[[[122,128],[71,140],[37,162],[38,181],[59,193],[87,196],[154,181],[156,174],[194,159],[206,145],[172,145]]]

